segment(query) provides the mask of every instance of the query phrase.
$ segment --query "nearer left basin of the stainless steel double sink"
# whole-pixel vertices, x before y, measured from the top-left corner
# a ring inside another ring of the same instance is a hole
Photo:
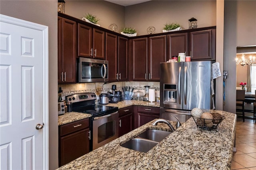
[[[146,140],[142,138],[133,138],[129,140],[128,142],[122,144],[121,146],[125,148],[129,148],[132,150],[137,150],[140,152],[148,152],[151,148],[156,146],[158,142],[152,141],[152,140]]]

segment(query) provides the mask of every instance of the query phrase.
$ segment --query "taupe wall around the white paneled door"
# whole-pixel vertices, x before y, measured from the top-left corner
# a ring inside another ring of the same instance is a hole
[[[49,168],[58,168],[57,0],[1,0],[0,13],[48,26]]]

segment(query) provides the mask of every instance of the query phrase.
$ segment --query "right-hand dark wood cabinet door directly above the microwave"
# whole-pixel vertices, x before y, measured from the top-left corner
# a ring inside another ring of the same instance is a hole
[[[105,59],[105,32],[93,28],[93,58]]]

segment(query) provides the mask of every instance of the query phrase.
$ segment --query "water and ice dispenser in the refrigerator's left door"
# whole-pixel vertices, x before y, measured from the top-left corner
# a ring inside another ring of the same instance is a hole
[[[177,103],[177,85],[164,84],[164,104]]]

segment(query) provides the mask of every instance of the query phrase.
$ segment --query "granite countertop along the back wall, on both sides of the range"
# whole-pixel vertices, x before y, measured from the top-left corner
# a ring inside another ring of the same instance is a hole
[[[136,101],[136,100],[125,100],[125,101],[120,101],[118,103],[109,103],[106,106],[114,106],[114,107],[118,107],[118,109],[122,109],[124,107],[132,106],[132,105],[160,107],[160,104],[157,102],[151,103],[147,101]],[[63,115],[58,116],[58,126],[64,125],[66,123],[71,123],[74,121],[79,121],[81,119],[86,119],[88,117],[91,117],[91,115],[86,113],[78,113],[78,112],[64,113]]]

